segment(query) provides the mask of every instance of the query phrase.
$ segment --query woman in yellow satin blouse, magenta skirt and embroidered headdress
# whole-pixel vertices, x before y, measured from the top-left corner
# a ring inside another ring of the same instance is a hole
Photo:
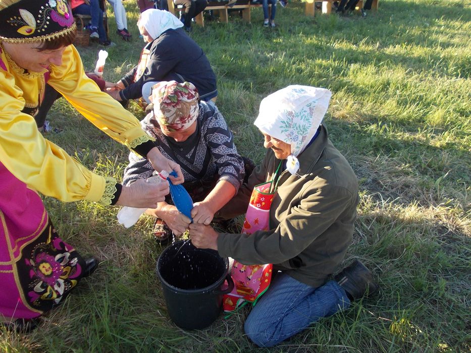
[[[154,208],[168,183],[122,186],[98,175],[37,130],[34,114],[47,82],[104,133],[146,157],[166,159],[138,120],[87,78],[71,43],[76,28],[63,0],[0,0],[0,323],[28,330],[96,268],[57,234],[38,193],[61,201]]]

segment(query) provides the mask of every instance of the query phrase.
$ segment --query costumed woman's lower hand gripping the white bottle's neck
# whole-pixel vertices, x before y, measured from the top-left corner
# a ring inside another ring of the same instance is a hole
[[[170,193],[169,182],[162,181],[159,184],[139,179],[130,186],[123,186],[121,195],[116,202],[118,206],[136,208],[155,208],[159,202],[165,200]]]

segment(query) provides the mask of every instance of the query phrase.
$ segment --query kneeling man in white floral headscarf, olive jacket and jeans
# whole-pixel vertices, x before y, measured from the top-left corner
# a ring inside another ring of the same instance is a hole
[[[265,159],[218,215],[244,213],[254,186],[273,181],[270,230],[229,234],[189,225],[198,248],[245,265],[274,264],[270,287],[245,321],[245,334],[259,346],[273,346],[376,290],[358,261],[329,278],[351,243],[359,200],[352,168],[321,125],[330,96],[323,88],[288,86],[261,101],[254,124],[265,138]]]

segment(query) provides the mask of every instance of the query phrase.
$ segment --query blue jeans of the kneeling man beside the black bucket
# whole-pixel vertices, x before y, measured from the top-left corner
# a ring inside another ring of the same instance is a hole
[[[278,273],[245,320],[244,330],[256,345],[271,347],[349,307],[350,300],[336,281],[314,288]]]

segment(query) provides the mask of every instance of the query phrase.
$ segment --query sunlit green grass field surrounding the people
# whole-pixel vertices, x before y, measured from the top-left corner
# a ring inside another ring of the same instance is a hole
[[[127,1],[131,42],[114,35],[105,67],[116,81],[137,63],[137,7]],[[218,76],[218,107],[239,152],[259,162],[252,122],[260,100],[289,84],[329,88],[325,117],[333,143],[360,182],[361,201],[346,262],[359,258],[381,290],[322,319],[272,349],[243,335],[248,308],[210,328],[183,331],[170,321],[155,262],[162,249],[151,221],[125,229],[118,208],[45,199],[58,232],[103,261],[29,335],[0,332],[5,351],[121,352],[433,352],[471,350],[471,7],[458,0],[384,0],[377,14],[304,16],[278,7],[272,29],[261,9],[252,24],[194,25]],[[110,14],[110,12],[109,12]],[[79,49],[92,70],[98,47]],[[136,106],[131,110],[141,118]],[[64,128],[48,138],[88,167],[120,179],[127,150],[65,102],[49,114]]]

